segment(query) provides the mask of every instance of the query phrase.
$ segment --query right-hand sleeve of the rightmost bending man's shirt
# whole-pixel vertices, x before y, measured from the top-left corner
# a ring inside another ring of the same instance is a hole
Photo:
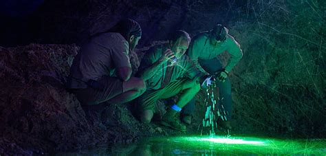
[[[226,71],[231,71],[231,69],[237,65],[243,56],[239,43],[237,43],[232,36],[228,38],[228,48],[226,51],[231,57],[228,60],[228,64],[226,65],[225,69]]]

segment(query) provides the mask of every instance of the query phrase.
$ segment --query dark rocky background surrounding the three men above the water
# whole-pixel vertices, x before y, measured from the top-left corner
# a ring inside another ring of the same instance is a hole
[[[153,41],[164,40],[174,30],[186,30],[193,37],[210,30],[216,23],[223,23],[240,43],[244,54],[230,73],[235,133],[326,136],[326,2],[323,0],[5,0],[0,7],[0,67],[3,71],[0,87],[4,89],[0,123],[5,125],[0,130],[3,136],[6,134],[5,139],[0,140],[2,144],[15,140],[12,141],[14,147],[37,146],[48,151],[53,146],[56,146],[53,149],[65,150],[85,147],[85,142],[92,144],[95,140],[107,142],[106,137],[97,135],[96,132],[105,131],[96,130],[94,127],[98,124],[92,128],[85,122],[76,122],[85,120],[85,114],[80,113],[76,99],[60,84],[69,73],[69,65],[83,39],[125,17],[142,26],[140,51]],[[226,60],[228,54],[221,58]],[[201,93],[198,96],[203,98]],[[205,111],[200,100],[197,106],[197,114]],[[119,123],[129,125],[126,121],[132,120],[131,127],[139,128],[133,137],[141,135],[145,131],[140,128],[142,125],[128,116],[127,109],[119,108],[111,108],[127,114],[117,119]],[[200,122],[197,116],[195,123]],[[44,123],[47,126],[42,126]],[[123,129],[125,134],[131,135],[132,128],[129,128],[116,128],[105,136],[122,140],[126,136],[117,137],[118,134]],[[158,130],[153,129],[146,132],[158,135],[155,132]],[[26,136],[34,137],[26,139]],[[102,139],[98,139],[99,136]],[[21,138],[34,143],[28,146]]]

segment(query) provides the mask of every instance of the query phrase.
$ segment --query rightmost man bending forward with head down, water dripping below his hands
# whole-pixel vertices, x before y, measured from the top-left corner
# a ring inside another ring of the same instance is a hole
[[[230,59],[226,67],[221,65],[217,56],[223,52],[230,54]],[[193,60],[196,67],[204,74],[215,74],[217,77],[217,87],[219,87],[219,111],[223,115],[222,120],[226,129],[231,129],[231,84],[228,78],[228,73],[232,67],[235,67],[243,54],[239,43],[235,38],[228,34],[228,29],[221,24],[215,25],[213,30],[202,32],[193,38],[188,49],[188,56]],[[195,100],[191,100],[184,108],[184,114],[193,113]],[[224,111],[226,115],[224,115]]]

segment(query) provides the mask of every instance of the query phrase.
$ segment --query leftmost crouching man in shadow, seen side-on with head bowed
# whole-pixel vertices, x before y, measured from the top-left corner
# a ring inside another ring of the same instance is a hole
[[[141,78],[131,77],[129,51],[138,44],[140,25],[126,19],[91,36],[74,58],[68,87],[83,105],[129,102],[145,91]]]

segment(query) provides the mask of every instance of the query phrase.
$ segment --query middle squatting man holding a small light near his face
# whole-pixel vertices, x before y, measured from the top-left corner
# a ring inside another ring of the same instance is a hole
[[[199,91],[198,78],[201,76],[188,56],[184,55],[190,40],[188,33],[179,30],[173,34],[169,43],[156,45],[144,55],[138,75],[146,82],[146,91],[137,100],[143,123],[151,122],[157,100],[182,92],[177,102],[166,111],[161,123],[172,129],[186,131],[177,113]]]

